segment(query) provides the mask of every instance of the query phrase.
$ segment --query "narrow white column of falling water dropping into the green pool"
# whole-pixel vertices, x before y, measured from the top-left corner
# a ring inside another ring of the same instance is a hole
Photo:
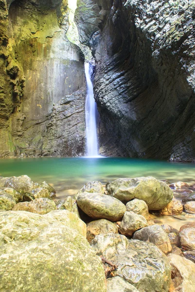
[[[87,98],[85,104],[86,136],[87,136],[87,156],[98,156],[97,139],[97,105],[93,95],[93,84],[91,81],[92,65],[85,63],[85,75],[87,80]]]

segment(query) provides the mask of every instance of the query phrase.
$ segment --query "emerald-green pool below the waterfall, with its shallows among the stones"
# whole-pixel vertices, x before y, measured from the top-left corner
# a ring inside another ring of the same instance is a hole
[[[169,163],[158,160],[131,158],[21,158],[1,159],[0,176],[28,175],[37,183],[46,180],[56,190],[58,198],[75,195],[90,181],[106,184],[118,178],[153,176],[170,183],[183,181],[195,184],[195,164]],[[153,217],[175,228],[194,221],[194,215],[183,214],[179,219],[172,216]]]

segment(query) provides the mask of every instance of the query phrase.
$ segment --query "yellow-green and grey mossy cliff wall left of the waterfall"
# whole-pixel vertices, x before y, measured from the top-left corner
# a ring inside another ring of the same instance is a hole
[[[67,0],[0,0],[0,157],[85,151],[85,73]]]

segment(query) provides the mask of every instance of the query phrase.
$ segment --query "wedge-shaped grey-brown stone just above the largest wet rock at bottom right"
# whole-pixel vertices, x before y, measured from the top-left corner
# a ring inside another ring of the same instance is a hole
[[[154,243],[166,255],[172,251],[172,246],[166,232],[159,225],[144,227],[135,232],[133,239]]]

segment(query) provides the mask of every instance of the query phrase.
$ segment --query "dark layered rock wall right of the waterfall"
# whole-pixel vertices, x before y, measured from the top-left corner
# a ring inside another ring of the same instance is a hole
[[[101,153],[194,161],[195,1],[79,3],[80,39],[96,59]]]

